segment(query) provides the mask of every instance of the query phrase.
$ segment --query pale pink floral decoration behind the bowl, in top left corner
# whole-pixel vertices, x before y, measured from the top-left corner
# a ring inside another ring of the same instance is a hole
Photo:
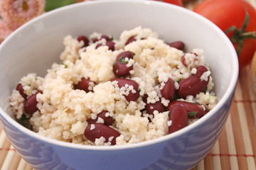
[[[45,0],[0,0],[0,43],[11,31],[44,13]]]

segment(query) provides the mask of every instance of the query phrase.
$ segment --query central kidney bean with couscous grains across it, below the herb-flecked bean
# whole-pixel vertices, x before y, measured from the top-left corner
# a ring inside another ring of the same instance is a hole
[[[124,97],[127,99],[127,101],[137,101],[139,98],[139,84],[137,84],[136,81],[131,79],[111,79],[110,81],[117,81],[119,88],[125,86],[125,84],[128,84],[129,86],[133,86],[133,89],[136,91],[134,94],[132,91],[129,91],[128,96],[124,95]]]

